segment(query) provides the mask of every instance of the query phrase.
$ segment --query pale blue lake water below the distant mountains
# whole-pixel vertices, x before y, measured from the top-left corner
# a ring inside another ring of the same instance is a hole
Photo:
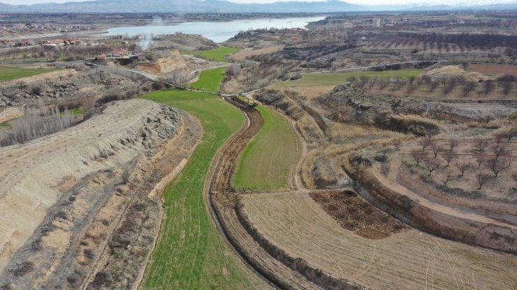
[[[285,19],[258,19],[258,20],[235,20],[232,22],[183,22],[173,25],[158,26],[126,26],[108,29],[104,36],[137,34],[173,34],[182,32],[186,34],[199,34],[216,43],[222,43],[235,36],[239,31],[249,29],[263,29],[275,27],[282,28],[303,28],[309,22],[323,20],[325,17],[293,17]]]

